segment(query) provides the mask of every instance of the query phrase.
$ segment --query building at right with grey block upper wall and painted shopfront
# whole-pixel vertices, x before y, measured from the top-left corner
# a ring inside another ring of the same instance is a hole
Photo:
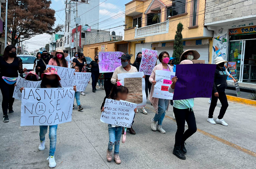
[[[240,87],[256,89],[256,5],[254,0],[206,0],[204,25],[214,32],[211,63],[227,60]],[[228,84],[234,86],[232,80]]]

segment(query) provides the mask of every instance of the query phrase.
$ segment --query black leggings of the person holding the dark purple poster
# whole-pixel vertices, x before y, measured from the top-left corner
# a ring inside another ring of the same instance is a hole
[[[192,109],[177,109],[173,107],[173,113],[177,123],[175,146],[181,146],[191,135],[196,133],[196,119]],[[184,133],[185,120],[188,123],[188,130]]]

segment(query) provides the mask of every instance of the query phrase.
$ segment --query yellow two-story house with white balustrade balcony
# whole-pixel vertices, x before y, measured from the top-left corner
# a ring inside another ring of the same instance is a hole
[[[205,0],[132,0],[125,4],[124,40],[131,42],[130,54],[136,58],[142,48],[173,54],[177,24],[184,30],[184,51],[197,50],[208,63],[212,31],[204,27]]]

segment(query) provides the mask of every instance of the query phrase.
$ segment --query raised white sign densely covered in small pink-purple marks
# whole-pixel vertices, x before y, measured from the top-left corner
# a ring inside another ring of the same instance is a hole
[[[142,48],[142,59],[139,72],[144,72],[144,75],[151,75],[156,62],[157,51]]]

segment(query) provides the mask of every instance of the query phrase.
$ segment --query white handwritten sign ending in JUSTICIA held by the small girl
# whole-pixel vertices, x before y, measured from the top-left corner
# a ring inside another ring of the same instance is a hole
[[[101,122],[131,128],[135,103],[106,99]]]

